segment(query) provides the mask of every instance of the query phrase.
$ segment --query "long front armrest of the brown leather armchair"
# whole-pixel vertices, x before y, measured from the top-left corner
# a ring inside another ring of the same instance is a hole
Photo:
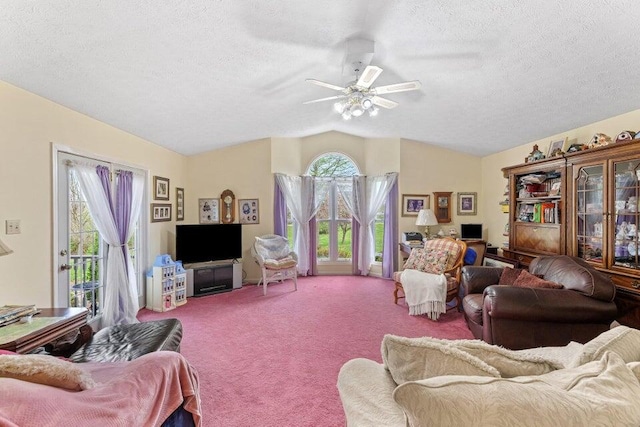
[[[489,286],[484,312],[492,319],[535,322],[589,323],[615,318],[616,305],[568,289]]]

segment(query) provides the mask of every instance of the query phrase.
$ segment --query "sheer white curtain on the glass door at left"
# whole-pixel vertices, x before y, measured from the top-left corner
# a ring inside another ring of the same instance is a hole
[[[102,326],[137,323],[136,314],[139,309],[137,288],[129,286],[129,276],[135,276],[135,272],[133,272],[131,260],[125,260],[125,251],[122,250],[122,245],[120,244],[111,194],[103,186],[95,164],[74,162],[72,168],[78,179],[82,194],[87,200],[89,212],[100,233],[100,237],[109,246],[106,262]],[[141,182],[135,179],[135,182],[137,182],[137,184],[134,184],[134,188],[136,188],[135,194],[136,198],[139,199],[137,205],[140,206],[132,209],[132,213],[135,210],[139,214],[142,205],[141,193],[144,188],[144,181]],[[140,183],[142,183],[142,189],[140,188]],[[135,221],[135,219],[131,218],[130,221]],[[127,265],[129,268],[127,268]],[[135,278],[133,284],[135,285]],[[124,310],[122,310],[123,308]]]

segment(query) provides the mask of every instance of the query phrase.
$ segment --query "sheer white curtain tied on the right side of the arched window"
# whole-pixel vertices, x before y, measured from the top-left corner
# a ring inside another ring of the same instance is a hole
[[[369,274],[371,263],[375,257],[375,219],[378,209],[396,182],[398,174],[388,173],[384,176],[354,176],[353,188],[338,184],[347,208],[360,224],[360,239],[358,242],[358,270],[360,274]]]

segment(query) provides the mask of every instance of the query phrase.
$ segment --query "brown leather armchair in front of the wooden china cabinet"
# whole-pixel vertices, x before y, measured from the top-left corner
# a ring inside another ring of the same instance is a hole
[[[609,329],[617,308],[611,279],[580,258],[538,257],[529,272],[563,289],[500,286],[502,268],[462,269],[462,308],[474,337],[513,350],[585,343]]]

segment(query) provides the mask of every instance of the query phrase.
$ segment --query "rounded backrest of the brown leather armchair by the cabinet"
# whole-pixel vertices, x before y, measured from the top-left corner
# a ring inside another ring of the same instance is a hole
[[[531,261],[529,272],[541,274],[545,280],[556,282],[600,301],[611,302],[616,287],[611,278],[591,267],[584,260],[567,255],[538,257]]]

